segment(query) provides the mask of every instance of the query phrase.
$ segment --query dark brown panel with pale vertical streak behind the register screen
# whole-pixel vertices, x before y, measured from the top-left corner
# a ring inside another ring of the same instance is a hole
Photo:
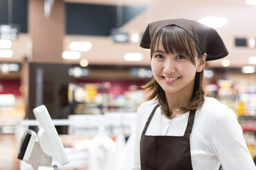
[[[72,77],[68,76],[70,67],[68,64],[55,63],[29,64],[28,118],[34,119],[33,109],[43,104],[51,118],[61,117],[60,89],[72,82]]]

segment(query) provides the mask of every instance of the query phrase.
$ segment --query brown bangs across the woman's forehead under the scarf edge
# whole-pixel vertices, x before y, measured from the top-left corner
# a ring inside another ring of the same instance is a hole
[[[151,44],[151,56],[155,50],[163,47],[165,53],[178,53],[188,56],[190,61],[195,64],[195,56],[201,54],[199,46],[196,44],[192,36],[182,28],[176,25],[169,25],[162,28],[156,33]]]

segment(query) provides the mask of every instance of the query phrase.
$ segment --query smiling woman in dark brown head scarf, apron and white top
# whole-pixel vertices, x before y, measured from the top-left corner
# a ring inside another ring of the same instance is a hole
[[[203,90],[205,61],[228,55],[219,34],[187,19],[156,21],[140,47],[150,47],[154,78],[137,111],[133,169],[255,170],[234,112]]]

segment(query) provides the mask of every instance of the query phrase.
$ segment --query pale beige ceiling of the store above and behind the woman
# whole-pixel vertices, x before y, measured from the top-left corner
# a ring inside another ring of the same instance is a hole
[[[230,54],[230,67],[250,65],[248,57],[256,56],[256,48],[235,47],[236,38],[256,38],[256,6],[250,6],[244,0],[66,0],[72,3],[97,3],[104,5],[147,6],[147,10],[122,26],[122,30],[132,34],[144,31],[147,24],[161,19],[185,18],[198,20],[202,17],[225,17],[228,24],[217,28]],[[53,8],[54,10],[54,8]],[[88,52],[82,52],[80,59],[87,59],[89,64],[108,65],[149,65],[149,51],[139,47],[138,43],[114,43],[110,36],[71,36],[64,37],[63,49],[68,50],[72,41],[89,41],[93,47]],[[30,38],[28,34],[20,34],[19,39],[12,44],[14,55],[3,61],[21,62],[29,52]],[[127,52],[140,52],[142,61],[125,61]],[[80,60],[64,61],[79,63]],[[221,60],[209,61],[212,67],[222,67]]]

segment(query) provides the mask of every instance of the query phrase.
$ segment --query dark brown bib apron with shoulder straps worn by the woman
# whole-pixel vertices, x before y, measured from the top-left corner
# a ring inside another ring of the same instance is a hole
[[[147,127],[157,107],[152,110],[140,138],[141,170],[192,170],[190,134],[196,110],[190,111],[184,136],[147,136]]]

